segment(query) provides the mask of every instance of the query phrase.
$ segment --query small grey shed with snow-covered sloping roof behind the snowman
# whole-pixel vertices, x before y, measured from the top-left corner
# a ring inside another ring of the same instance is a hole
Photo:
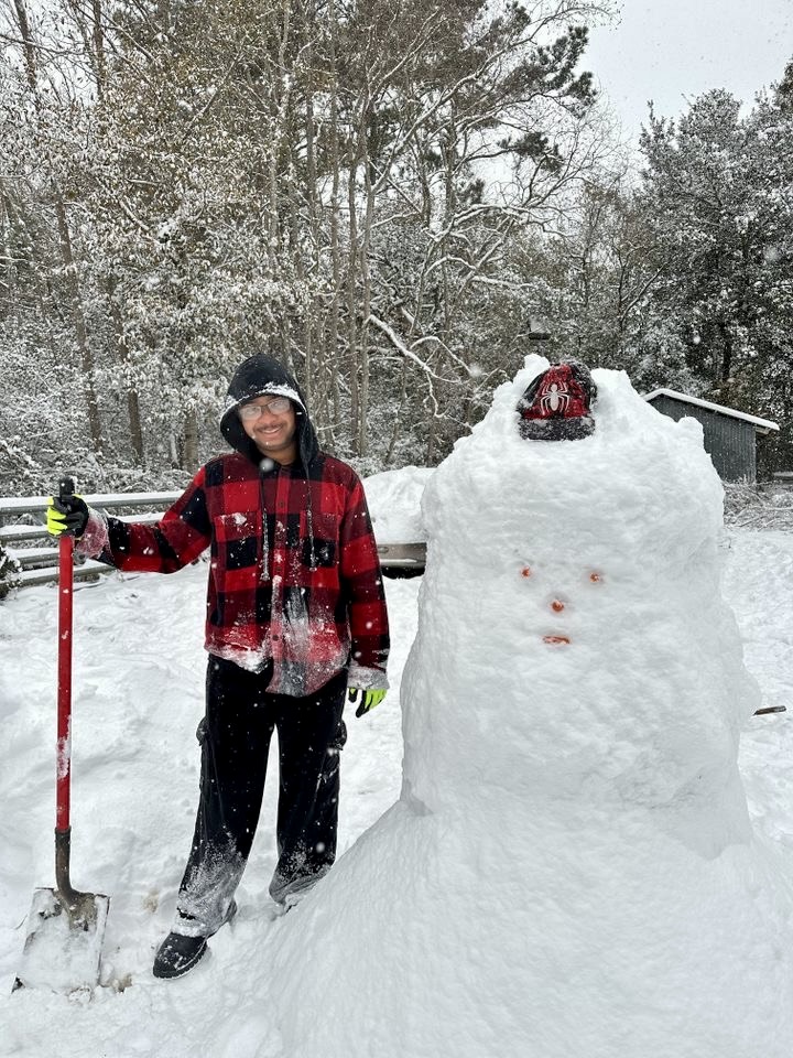
[[[775,422],[674,389],[655,389],[644,400],[670,419],[689,415],[702,423],[705,451],[723,482],[757,481],[757,439],[779,430]]]

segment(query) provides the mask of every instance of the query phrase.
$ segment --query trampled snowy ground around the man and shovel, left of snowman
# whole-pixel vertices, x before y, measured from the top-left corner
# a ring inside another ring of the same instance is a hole
[[[392,690],[367,719],[347,716],[340,849],[399,796],[399,682],[415,633],[419,579],[388,582],[395,630]],[[268,949],[274,916],[273,762],[232,928],[180,991],[151,976],[167,932],[197,803],[206,565],[174,576],[111,574],[75,596],[72,879],[110,895],[102,982],[88,1000],[10,994],[33,888],[54,884],[56,601],[51,586],[0,606],[0,1055],[99,1058],[253,1055],[276,1040]],[[296,916],[300,908],[292,911]],[[174,982],[169,982],[174,983]],[[143,985],[142,987],[140,985]],[[261,994],[258,1023],[242,996]],[[273,1044],[274,1046],[274,1044]],[[278,1050],[274,1051],[278,1054]]]

